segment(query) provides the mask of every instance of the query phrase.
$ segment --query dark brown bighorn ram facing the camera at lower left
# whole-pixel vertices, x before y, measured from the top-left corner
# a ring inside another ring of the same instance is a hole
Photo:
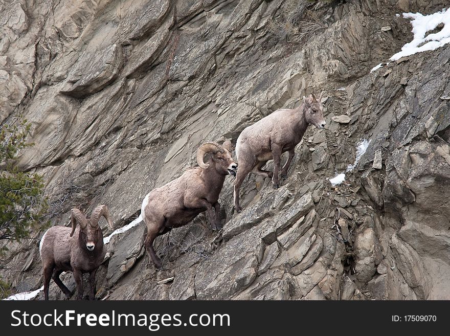
[[[50,279],[70,298],[69,288],[59,278],[63,271],[73,271],[78,300],[83,296],[83,273],[89,273],[89,300],[95,299],[95,274],[106,254],[102,230],[98,225],[101,216],[106,218],[109,228],[113,229],[108,208],[101,205],[94,209],[89,219],[80,210],[72,209],[72,229],[56,226],[44,233],[39,243],[39,254],[44,273],[45,300],[49,299]]]

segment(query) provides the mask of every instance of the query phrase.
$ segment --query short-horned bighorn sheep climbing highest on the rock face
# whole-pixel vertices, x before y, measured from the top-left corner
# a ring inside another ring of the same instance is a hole
[[[241,211],[239,188],[250,171],[257,175],[272,178],[274,188],[278,188],[278,172],[281,154],[288,151],[289,156],[281,170],[286,177],[287,169],[294,158],[295,147],[302,140],[309,124],[317,128],[325,127],[323,105],[311,94],[303,96],[303,103],[295,109],[278,109],[255,124],[246,127],[236,142],[236,159],[239,168],[234,182],[234,208]],[[274,160],[274,172],[261,170],[268,160]]]

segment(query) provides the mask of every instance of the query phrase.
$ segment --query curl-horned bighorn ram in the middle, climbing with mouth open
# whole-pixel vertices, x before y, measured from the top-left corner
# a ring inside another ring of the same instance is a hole
[[[230,141],[223,145],[215,142],[202,144],[197,150],[199,167],[189,168],[175,180],[153,189],[145,196],[141,207],[141,216],[147,225],[145,249],[160,270],[161,259],[153,249],[153,241],[157,236],[186,225],[205,210],[212,227],[219,226],[220,205],[217,200],[225,176],[236,176],[237,164],[233,161],[232,152]],[[205,154],[209,154],[206,162]]]

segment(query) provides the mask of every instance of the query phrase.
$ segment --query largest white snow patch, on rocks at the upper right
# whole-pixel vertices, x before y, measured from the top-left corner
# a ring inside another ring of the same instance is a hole
[[[435,50],[450,42],[450,8],[430,15],[403,13],[403,17],[412,19],[414,38],[411,42],[406,43],[401,51],[393,55],[390,60],[396,61],[401,57]],[[435,29],[439,24],[444,24],[440,32],[425,36],[427,32]],[[423,45],[420,46],[421,44]]]

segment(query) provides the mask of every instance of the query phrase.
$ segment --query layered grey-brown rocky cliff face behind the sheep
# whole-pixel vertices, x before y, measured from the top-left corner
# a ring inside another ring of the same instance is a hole
[[[235,143],[324,91],[326,129],[308,128],[281,188],[251,175],[233,214],[227,177],[222,233],[200,215],[159,237],[165,271],[149,264],[143,223],[114,236],[97,296],[450,299],[450,47],[370,72],[412,39],[396,13],[445,5],[7,0],[0,121],[32,122],[35,146],[19,165],[46,178],[54,225],[74,206],[107,204],[119,228],[152,188],[195,164],[202,142]],[[364,139],[356,167],[331,186]],[[42,284],[42,234],[9,244],[0,275],[17,292]],[[62,298],[53,282],[50,297]]]

